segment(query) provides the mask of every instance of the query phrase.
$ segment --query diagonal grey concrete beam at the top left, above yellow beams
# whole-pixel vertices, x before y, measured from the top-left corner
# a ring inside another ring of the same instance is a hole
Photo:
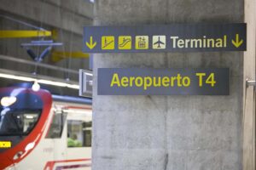
[[[39,0],[1,0],[0,10],[79,35],[83,34],[83,26],[92,23],[87,16]]]

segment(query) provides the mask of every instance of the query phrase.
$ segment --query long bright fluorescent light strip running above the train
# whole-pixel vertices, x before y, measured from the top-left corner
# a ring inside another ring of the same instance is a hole
[[[55,81],[50,81],[50,80],[36,79],[36,78],[32,78],[32,77],[20,77],[20,76],[15,76],[15,75],[11,75],[11,74],[3,74],[3,73],[0,73],[0,77],[13,79],[13,80],[20,80],[20,81],[24,81],[24,82],[38,82],[38,83],[47,84],[47,85],[51,85],[51,86],[79,89],[79,85],[70,84],[67,82],[55,82]]]

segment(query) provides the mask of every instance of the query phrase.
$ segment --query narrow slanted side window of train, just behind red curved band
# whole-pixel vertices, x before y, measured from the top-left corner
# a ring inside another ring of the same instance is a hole
[[[49,127],[49,132],[46,138],[59,139],[61,138],[64,122],[66,120],[67,114],[63,111],[55,111],[53,120]]]

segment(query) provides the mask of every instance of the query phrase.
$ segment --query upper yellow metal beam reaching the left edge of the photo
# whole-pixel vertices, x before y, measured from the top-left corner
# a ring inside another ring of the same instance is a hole
[[[0,38],[50,37],[51,31],[2,30]]]

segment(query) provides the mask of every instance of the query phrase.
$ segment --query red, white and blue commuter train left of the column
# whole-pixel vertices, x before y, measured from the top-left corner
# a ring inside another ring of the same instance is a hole
[[[90,169],[91,99],[0,88],[0,169]]]

